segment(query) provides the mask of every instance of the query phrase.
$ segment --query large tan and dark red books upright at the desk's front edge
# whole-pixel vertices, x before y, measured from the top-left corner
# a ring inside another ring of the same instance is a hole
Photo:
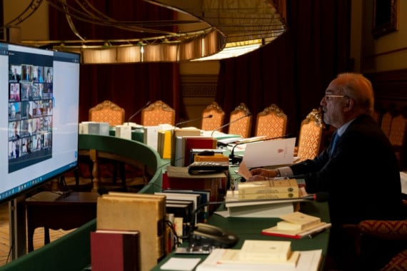
[[[133,260],[137,263],[133,269],[126,265],[123,269],[116,267],[111,270],[137,270],[136,267],[140,267],[141,271],[151,270],[166,255],[164,195],[109,192],[98,198],[96,208],[96,234],[93,234],[96,240],[91,245],[92,270],[99,270],[94,266],[104,266],[106,257],[99,250],[102,246],[119,250],[121,254],[117,255],[118,262],[133,265]],[[109,245],[107,241],[115,243]]]

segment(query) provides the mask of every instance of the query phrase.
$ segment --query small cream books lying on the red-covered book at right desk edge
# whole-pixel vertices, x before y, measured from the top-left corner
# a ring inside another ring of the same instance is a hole
[[[281,215],[280,218],[283,221],[278,222],[277,227],[281,230],[304,230],[321,223],[321,218],[301,212]]]

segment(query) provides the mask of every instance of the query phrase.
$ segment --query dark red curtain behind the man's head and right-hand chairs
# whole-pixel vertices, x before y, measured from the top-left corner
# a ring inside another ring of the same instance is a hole
[[[350,71],[351,3],[287,0],[286,4],[286,33],[259,50],[221,61],[216,101],[226,116],[246,103],[253,120],[275,103],[288,116],[287,133],[298,134],[303,118],[319,107],[328,83],[337,73]]]

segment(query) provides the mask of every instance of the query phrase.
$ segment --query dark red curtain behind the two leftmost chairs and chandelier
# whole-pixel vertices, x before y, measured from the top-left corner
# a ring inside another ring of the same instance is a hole
[[[89,1],[102,14],[119,21],[172,20],[174,11],[155,6],[141,0]],[[76,1],[67,1],[80,10]],[[91,10],[87,7],[86,9]],[[94,21],[89,14],[81,18]],[[116,27],[90,24],[71,16],[78,34],[85,39],[136,39],[151,36]],[[172,31],[168,26],[163,30]],[[49,31],[51,40],[79,40],[69,27],[64,12],[51,6],[49,9]],[[155,35],[156,36],[156,35]],[[81,65],[79,121],[88,120],[89,108],[104,100],[110,100],[124,108],[126,121],[143,107],[147,101],[161,100],[180,112],[181,97],[178,63],[129,63]],[[177,113],[177,118],[179,114]],[[140,114],[134,121],[140,123]]]

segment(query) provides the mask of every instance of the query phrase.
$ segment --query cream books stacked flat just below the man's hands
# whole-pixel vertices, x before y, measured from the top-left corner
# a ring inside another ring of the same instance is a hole
[[[294,193],[298,198],[298,184],[296,179],[256,180],[239,183],[239,195],[261,193]]]

